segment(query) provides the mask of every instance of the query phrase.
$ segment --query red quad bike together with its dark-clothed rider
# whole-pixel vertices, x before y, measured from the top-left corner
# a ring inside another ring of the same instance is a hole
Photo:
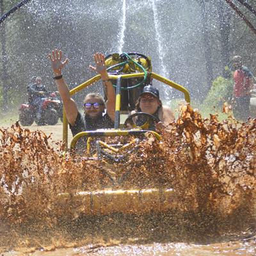
[[[56,92],[48,92],[36,77],[35,83],[28,86],[28,104],[21,104],[19,120],[21,125],[55,125],[62,119],[62,104]]]

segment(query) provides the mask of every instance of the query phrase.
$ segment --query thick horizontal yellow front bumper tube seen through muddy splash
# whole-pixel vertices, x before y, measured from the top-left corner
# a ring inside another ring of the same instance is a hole
[[[122,212],[124,214],[164,212],[177,207],[177,198],[173,189],[129,189],[80,191],[75,195],[61,193],[58,205],[74,209],[83,207],[85,215],[104,215]]]

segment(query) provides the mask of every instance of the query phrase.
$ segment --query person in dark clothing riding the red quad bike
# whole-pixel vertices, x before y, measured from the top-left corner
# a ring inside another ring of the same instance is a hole
[[[36,118],[40,119],[42,115],[42,103],[45,97],[49,94],[44,84],[42,84],[42,78],[40,76],[36,77],[35,83],[31,83],[28,87],[29,93],[29,104],[35,106]]]

